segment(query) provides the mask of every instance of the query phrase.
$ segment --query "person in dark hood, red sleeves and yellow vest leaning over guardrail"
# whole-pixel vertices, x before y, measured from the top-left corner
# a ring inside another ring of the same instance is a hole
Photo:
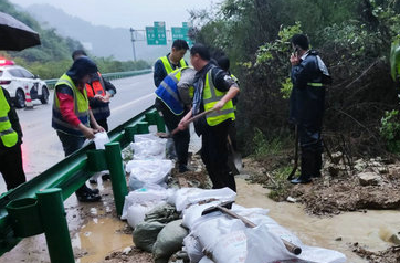
[[[85,85],[95,73],[96,64],[82,56],[74,61],[71,69],[55,85],[52,126],[61,140],[65,156],[80,149],[85,139],[93,139],[95,133],[105,131],[97,124],[86,95]],[[82,202],[101,199],[98,190],[92,190],[85,184],[75,194]]]

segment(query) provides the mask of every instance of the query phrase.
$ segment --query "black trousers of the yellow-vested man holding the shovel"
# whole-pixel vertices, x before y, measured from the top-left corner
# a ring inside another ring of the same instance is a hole
[[[235,179],[228,166],[228,134],[232,120],[204,127],[201,137],[201,159],[206,165],[213,189],[229,187],[236,191]]]

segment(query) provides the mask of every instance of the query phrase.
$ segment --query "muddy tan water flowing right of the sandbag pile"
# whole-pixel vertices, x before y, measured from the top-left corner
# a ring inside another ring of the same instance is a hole
[[[236,180],[236,203],[244,207],[270,209],[269,215],[283,227],[293,231],[305,244],[337,250],[346,254],[348,262],[364,263],[351,252],[349,244],[358,242],[372,251],[386,250],[392,233],[400,231],[400,211],[349,212],[333,218],[307,215],[297,203],[274,202],[267,198],[268,190],[260,185]],[[335,241],[336,239],[341,241]]]

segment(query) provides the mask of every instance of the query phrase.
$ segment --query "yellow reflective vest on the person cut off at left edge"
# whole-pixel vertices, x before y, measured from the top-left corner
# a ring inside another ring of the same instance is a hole
[[[13,147],[18,142],[18,134],[12,128],[8,118],[9,112],[10,105],[6,96],[4,96],[3,89],[0,87],[0,138],[5,147]]]

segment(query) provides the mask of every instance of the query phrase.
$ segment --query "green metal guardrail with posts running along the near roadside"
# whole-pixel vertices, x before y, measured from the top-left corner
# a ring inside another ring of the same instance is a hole
[[[164,119],[154,106],[110,131],[110,144],[106,145],[106,150],[94,150],[94,144],[91,143],[32,180],[3,193],[0,196],[0,256],[10,251],[23,238],[44,232],[51,261],[74,262],[73,255],[66,256],[66,250],[63,250],[63,246],[67,246],[67,251],[72,253],[63,200],[79,189],[94,172],[108,169],[117,213],[122,214],[127,186],[120,147],[127,147],[135,134],[148,133],[148,125],[157,125],[159,132],[165,132]],[[58,203],[55,204],[57,199]],[[13,213],[17,215],[10,217],[12,204],[16,205]],[[36,217],[32,215],[34,211],[37,213]],[[19,216],[18,220],[15,219],[16,216]],[[33,224],[33,218],[36,218],[36,224]],[[36,229],[33,225],[36,225]],[[63,235],[59,229],[65,230]]]

